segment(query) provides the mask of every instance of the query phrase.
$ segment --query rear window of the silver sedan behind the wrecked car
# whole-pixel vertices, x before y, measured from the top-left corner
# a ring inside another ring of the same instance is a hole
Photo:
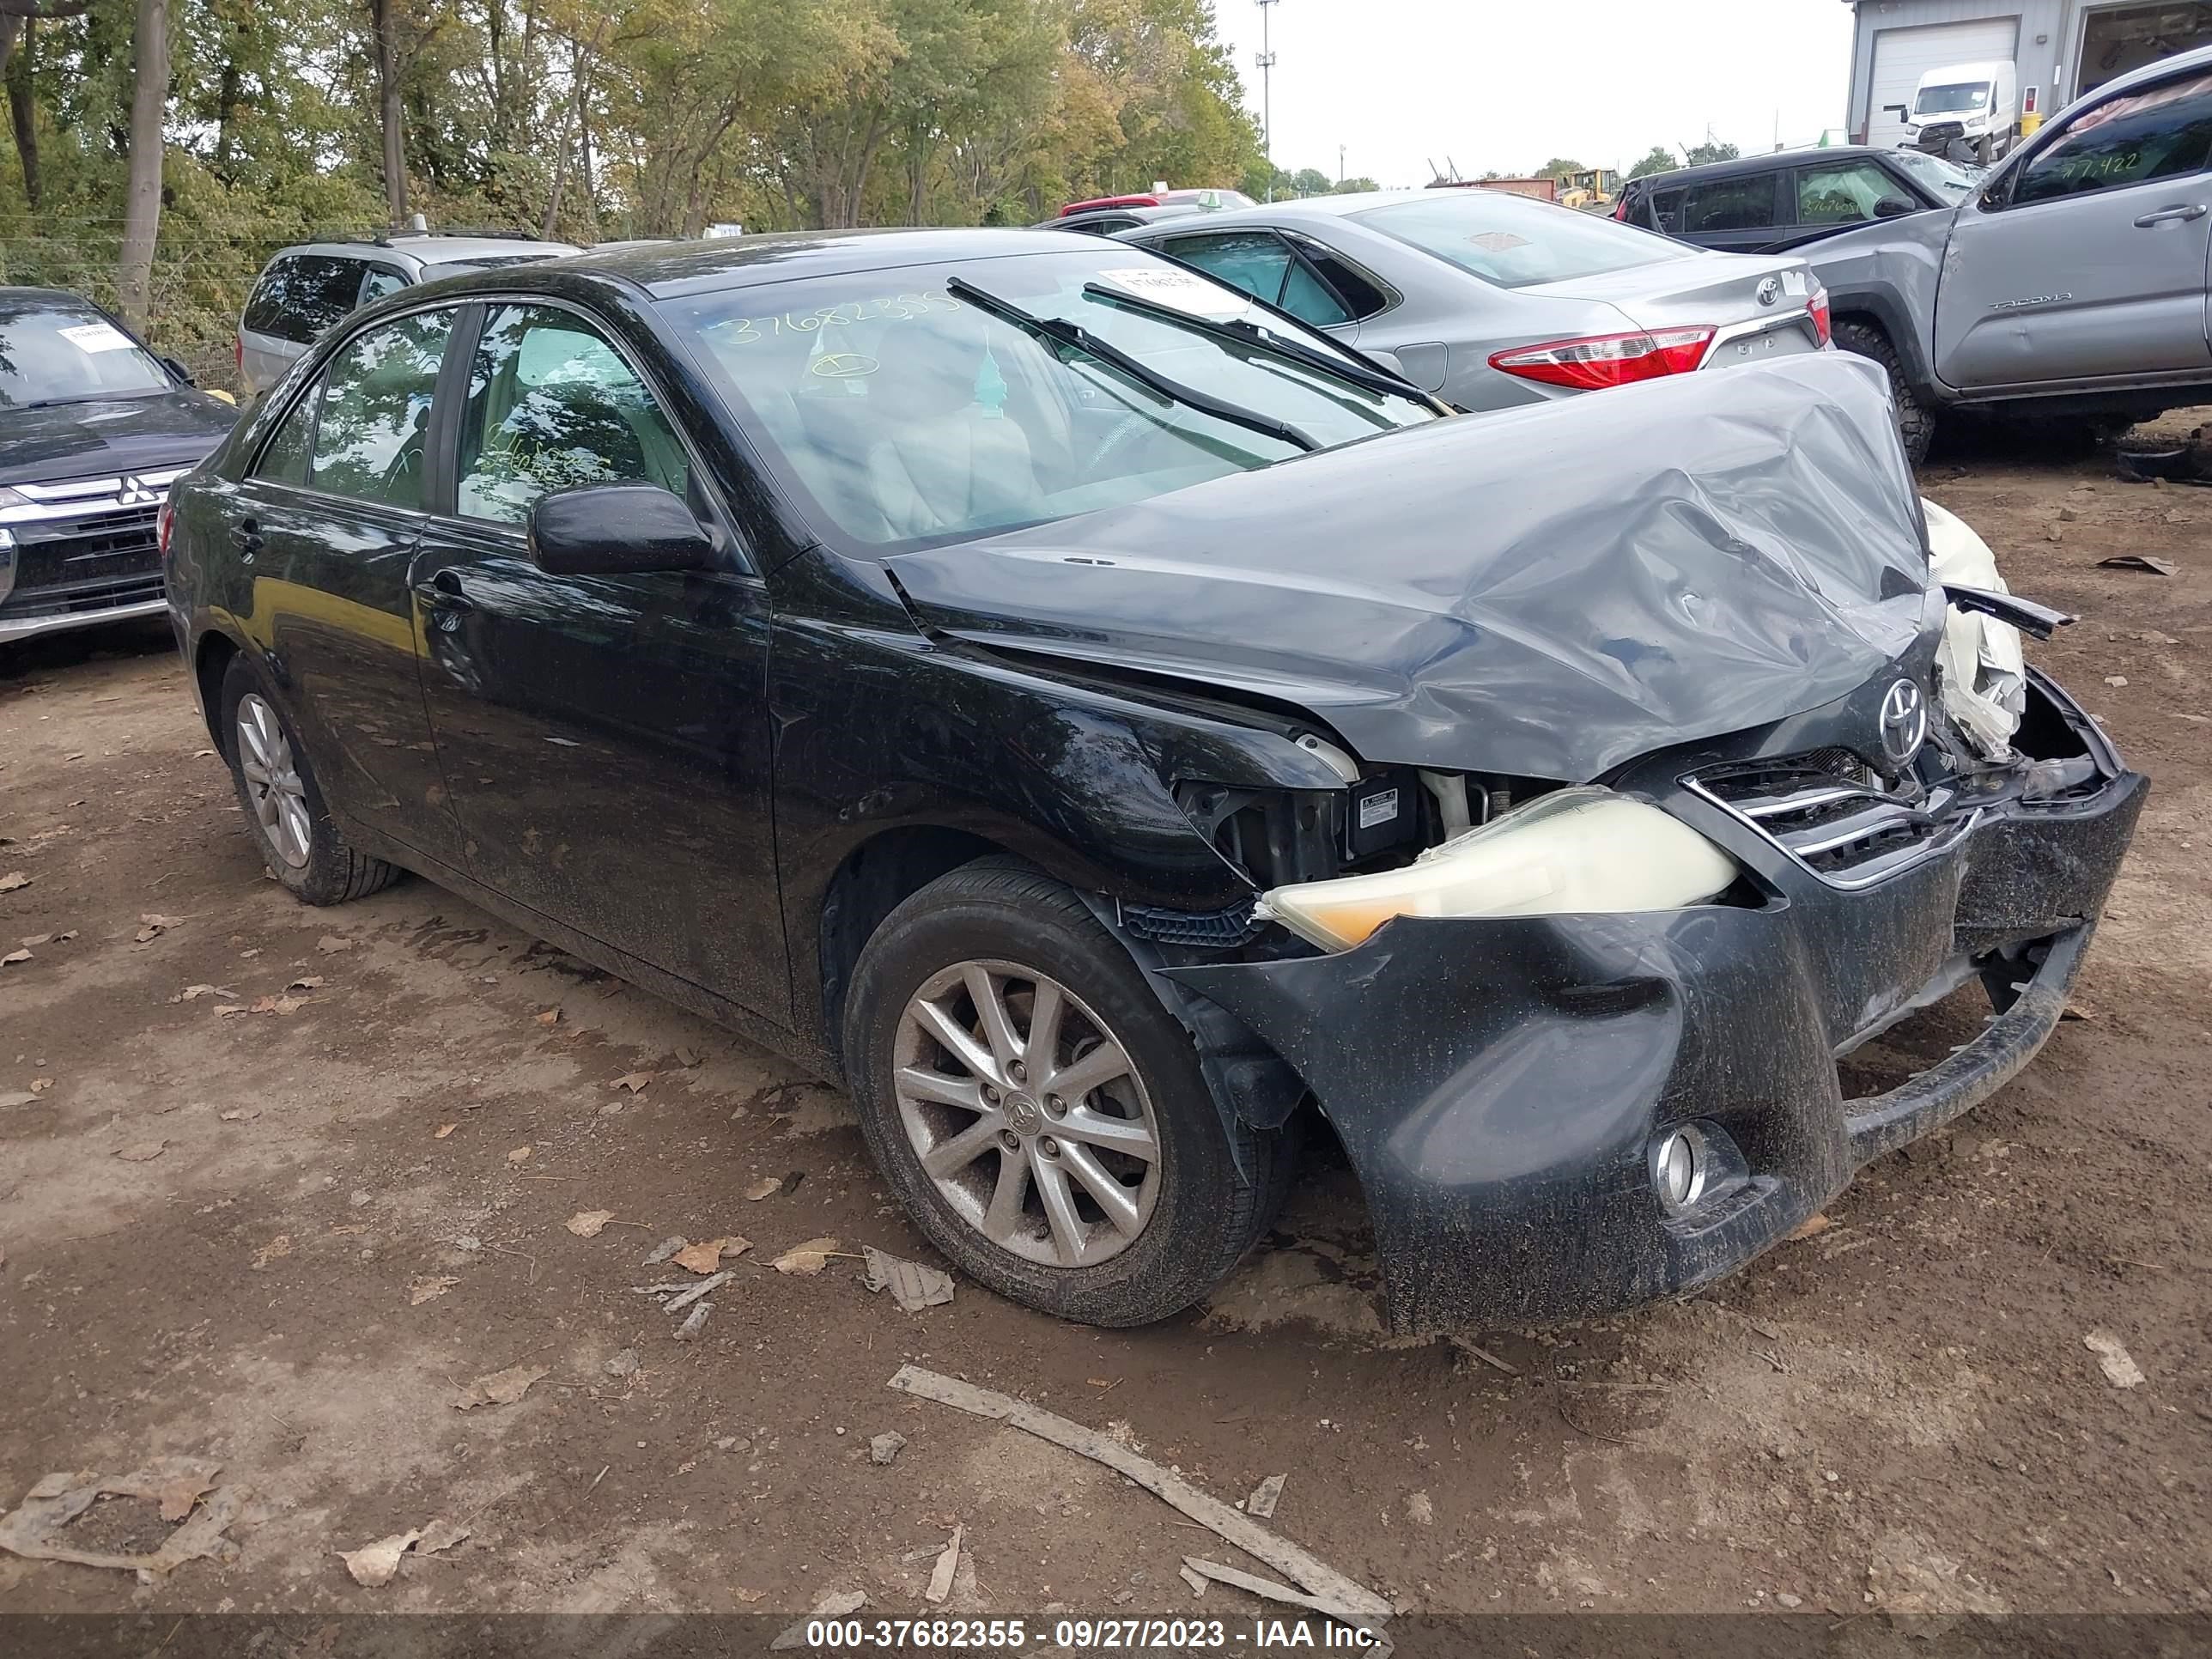
[[[1498,288],[1564,283],[1699,252],[1615,219],[1502,190],[1431,190],[1420,201],[1354,217]]]

